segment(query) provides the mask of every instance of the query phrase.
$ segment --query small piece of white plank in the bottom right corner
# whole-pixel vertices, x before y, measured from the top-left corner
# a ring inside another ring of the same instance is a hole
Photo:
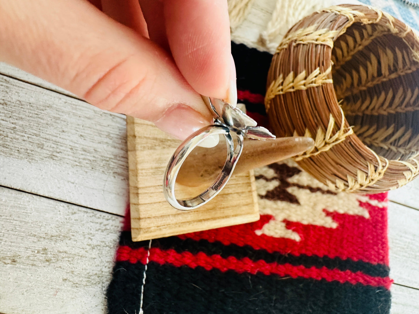
[[[391,314],[418,314],[419,290],[403,286],[391,286]]]

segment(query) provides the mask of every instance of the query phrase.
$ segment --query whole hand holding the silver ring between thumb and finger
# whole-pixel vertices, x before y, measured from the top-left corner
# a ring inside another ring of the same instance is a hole
[[[226,0],[2,0],[0,59],[180,139],[237,101]]]

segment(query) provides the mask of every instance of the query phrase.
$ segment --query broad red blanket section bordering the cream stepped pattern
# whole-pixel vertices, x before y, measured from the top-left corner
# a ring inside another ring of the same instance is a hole
[[[262,229],[264,224],[274,219],[270,215],[261,215],[259,221],[249,224],[182,234],[178,237],[191,238],[195,241],[200,239],[209,242],[219,241],[224,245],[250,245],[254,249],[282,254],[350,258],[388,265],[387,207],[380,208],[368,203],[360,205],[368,210],[369,218],[326,211],[327,215],[338,224],[336,228],[284,221],[287,229],[300,235],[301,240],[298,242],[265,234],[257,235],[256,230]]]

